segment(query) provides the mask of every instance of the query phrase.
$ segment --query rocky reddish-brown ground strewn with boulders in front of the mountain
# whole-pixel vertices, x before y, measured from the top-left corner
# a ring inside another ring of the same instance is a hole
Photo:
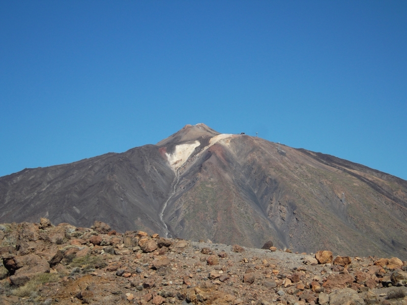
[[[0,225],[0,304],[402,304],[407,262],[120,234],[101,222]]]

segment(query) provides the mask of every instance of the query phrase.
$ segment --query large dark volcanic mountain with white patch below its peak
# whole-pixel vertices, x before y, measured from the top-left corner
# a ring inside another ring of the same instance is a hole
[[[407,259],[407,181],[247,135],[187,125],[156,145],[0,177],[0,222]]]

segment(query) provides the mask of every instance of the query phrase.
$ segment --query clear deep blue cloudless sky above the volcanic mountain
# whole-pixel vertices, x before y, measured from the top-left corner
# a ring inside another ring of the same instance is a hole
[[[407,1],[0,1],[0,176],[197,123],[407,179]]]

